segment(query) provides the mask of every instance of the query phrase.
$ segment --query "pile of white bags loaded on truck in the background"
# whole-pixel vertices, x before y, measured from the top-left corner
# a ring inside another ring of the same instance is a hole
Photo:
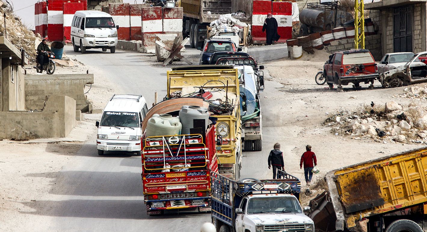
[[[208,12],[209,13],[209,12]],[[238,12],[242,13],[243,12]],[[237,15],[237,13],[235,13]],[[248,24],[241,22],[240,20],[233,18],[231,14],[220,15],[218,19],[211,22],[209,25],[211,31],[209,36],[218,36],[222,33],[234,33],[234,36],[239,36],[240,32],[243,32],[243,27],[247,27]]]

